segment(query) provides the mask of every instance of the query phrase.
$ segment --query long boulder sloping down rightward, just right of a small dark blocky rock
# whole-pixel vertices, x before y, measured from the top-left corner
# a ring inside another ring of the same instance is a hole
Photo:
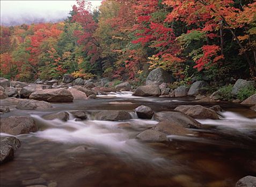
[[[153,115],[153,118],[157,121],[169,121],[175,122],[185,128],[200,128],[201,123],[194,120],[191,116],[181,112],[158,112]]]

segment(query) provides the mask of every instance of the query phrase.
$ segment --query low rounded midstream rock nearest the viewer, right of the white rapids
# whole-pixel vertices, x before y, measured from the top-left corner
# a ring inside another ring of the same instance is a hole
[[[148,129],[138,134],[136,138],[145,142],[165,142],[168,141],[166,134],[157,130]]]

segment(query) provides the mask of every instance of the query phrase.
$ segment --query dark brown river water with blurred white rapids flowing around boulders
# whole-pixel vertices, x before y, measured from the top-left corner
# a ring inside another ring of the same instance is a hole
[[[63,187],[217,187],[234,186],[239,178],[256,175],[256,113],[247,107],[218,103],[225,110],[221,119],[198,120],[207,127],[194,129],[199,136],[171,135],[168,143],[143,143],[136,135],[157,121],[137,118],[133,110],[141,104],[158,112],[198,103],[189,98],[134,97],[131,92],[120,92],[95,100],[55,103],[47,112],[12,110],[4,114],[31,115],[39,131],[17,136],[21,147],[14,160],[1,165],[1,186],[24,186],[23,180],[44,178],[45,185]],[[84,121],[71,114],[67,122],[42,118],[46,113],[72,110],[86,110],[91,115]],[[133,119],[94,120],[92,113],[99,110],[126,110]]]

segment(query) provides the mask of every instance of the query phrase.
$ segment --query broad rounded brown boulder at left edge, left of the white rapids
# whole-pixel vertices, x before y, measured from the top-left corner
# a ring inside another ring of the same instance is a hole
[[[36,130],[38,130],[38,127],[30,116],[10,116],[8,118],[1,118],[1,133],[16,136],[35,132]]]

